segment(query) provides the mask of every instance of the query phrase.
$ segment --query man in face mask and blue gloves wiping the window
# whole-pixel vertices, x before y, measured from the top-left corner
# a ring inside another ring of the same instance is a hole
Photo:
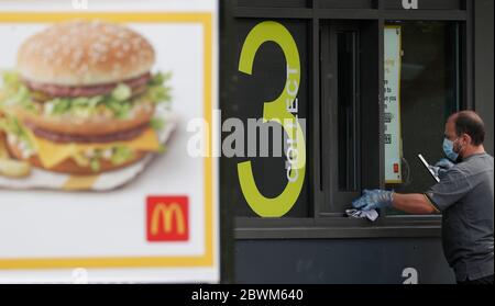
[[[459,284],[494,283],[494,171],[485,152],[485,128],[472,111],[446,123],[443,150],[459,162],[425,193],[364,190],[352,205],[362,211],[394,207],[410,214],[442,213],[443,252]]]

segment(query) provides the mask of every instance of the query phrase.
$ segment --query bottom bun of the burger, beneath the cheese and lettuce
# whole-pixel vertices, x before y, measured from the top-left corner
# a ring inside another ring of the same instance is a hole
[[[108,160],[100,160],[100,169],[98,171],[94,171],[91,169],[91,167],[89,167],[89,166],[87,166],[87,167],[79,166],[73,159],[66,159],[63,162],[57,163],[53,168],[47,169],[47,168],[43,167],[43,163],[41,162],[37,155],[31,156],[30,158],[25,159],[22,157],[22,151],[20,148],[18,148],[18,146],[10,144],[9,141],[6,141],[6,143],[8,144],[8,149],[9,149],[10,155],[15,159],[25,160],[29,163],[31,163],[33,167],[36,167],[36,168],[45,169],[45,170],[48,170],[52,172],[59,172],[59,173],[66,173],[66,174],[73,174],[73,175],[99,174],[102,172],[113,171],[113,170],[121,169],[121,168],[128,167],[130,165],[133,165],[146,156],[146,152],[136,151],[133,159],[128,160],[120,165],[113,165],[112,162],[110,162]]]

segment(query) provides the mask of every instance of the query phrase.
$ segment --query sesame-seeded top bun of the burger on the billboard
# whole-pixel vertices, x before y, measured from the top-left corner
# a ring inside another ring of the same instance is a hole
[[[154,61],[152,45],[139,33],[87,20],[57,23],[28,38],[18,53],[24,79],[70,87],[132,79]]]

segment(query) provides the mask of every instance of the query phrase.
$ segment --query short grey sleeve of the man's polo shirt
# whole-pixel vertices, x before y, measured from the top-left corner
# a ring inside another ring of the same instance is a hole
[[[472,185],[466,175],[453,168],[447,171],[440,182],[431,186],[425,194],[437,209],[443,212],[450,205],[459,202],[471,190]]]

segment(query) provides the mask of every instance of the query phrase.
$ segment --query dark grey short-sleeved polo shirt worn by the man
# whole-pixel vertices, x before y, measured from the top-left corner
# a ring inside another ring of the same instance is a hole
[[[426,195],[442,212],[442,245],[458,281],[494,274],[493,157],[472,155]]]

